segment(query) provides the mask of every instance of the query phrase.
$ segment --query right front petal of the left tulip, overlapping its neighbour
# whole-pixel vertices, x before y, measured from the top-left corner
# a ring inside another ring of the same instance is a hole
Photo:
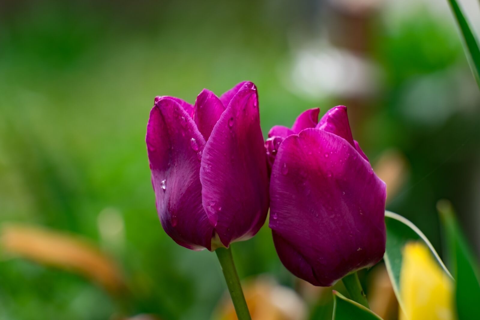
[[[268,176],[256,88],[235,95],[216,123],[200,181],[204,209],[226,247],[252,237],[264,224]]]

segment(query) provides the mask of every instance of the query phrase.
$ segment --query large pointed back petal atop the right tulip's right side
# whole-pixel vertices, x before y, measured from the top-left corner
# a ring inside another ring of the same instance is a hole
[[[316,126],[317,129],[332,132],[347,140],[355,147],[352,131],[348,124],[347,107],[337,106],[328,110]]]

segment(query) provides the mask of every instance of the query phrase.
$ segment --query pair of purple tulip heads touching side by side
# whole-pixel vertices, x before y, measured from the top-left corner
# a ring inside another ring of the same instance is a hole
[[[156,97],[146,142],[167,234],[189,249],[228,248],[254,236],[270,206],[278,256],[301,279],[329,286],[381,260],[385,184],[347,108],[319,112],[273,127],[264,143],[251,82],[220,97],[204,89],[194,105]]]

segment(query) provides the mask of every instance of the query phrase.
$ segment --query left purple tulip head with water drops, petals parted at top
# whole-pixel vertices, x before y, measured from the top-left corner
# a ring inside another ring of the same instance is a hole
[[[215,250],[253,237],[268,212],[258,95],[251,82],[195,105],[155,98],[146,143],[163,228],[183,247]]]

